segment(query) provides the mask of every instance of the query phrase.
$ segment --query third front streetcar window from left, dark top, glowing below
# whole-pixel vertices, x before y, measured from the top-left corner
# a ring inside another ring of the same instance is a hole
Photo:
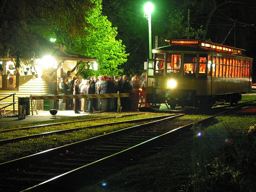
[[[184,75],[196,74],[196,54],[184,54]]]

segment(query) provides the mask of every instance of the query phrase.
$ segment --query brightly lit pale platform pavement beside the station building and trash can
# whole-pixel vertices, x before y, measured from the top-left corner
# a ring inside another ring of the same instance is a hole
[[[49,111],[38,111],[38,114],[36,112],[33,112],[34,115],[26,116],[25,119],[18,119],[18,115],[12,115],[10,116],[3,116],[0,118],[0,128],[3,126],[14,126],[14,125],[21,125],[36,121],[48,121],[53,119],[59,119],[59,118],[65,118],[65,117],[75,117],[75,116],[83,116],[83,115],[89,115],[88,113],[80,112],[76,114],[74,111],[59,111],[56,114],[56,118],[50,114]]]

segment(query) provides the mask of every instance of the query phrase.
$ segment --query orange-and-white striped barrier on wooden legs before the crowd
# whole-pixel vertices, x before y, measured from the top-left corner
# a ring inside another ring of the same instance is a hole
[[[117,97],[117,112],[121,112],[121,102],[120,97],[129,97],[129,93],[108,93],[108,94],[85,94],[85,95],[30,95],[31,98],[31,108],[32,103],[34,104],[34,100],[50,100],[50,99],[93,99],[93,98],[115,98]],[[34,104],[34,108],[36,108]],[[37,114],[37,111],[36,111]],[[33,108],[32,108],[33,115]]]

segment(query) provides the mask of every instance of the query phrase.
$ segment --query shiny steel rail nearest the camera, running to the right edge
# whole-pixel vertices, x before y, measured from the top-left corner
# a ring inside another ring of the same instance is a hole
[[[252,100],[252,101],[255,101],[255,100]],[[247,104],[247,103],[252,102],[252,101],[248,101],[246,103],[243,103],[242,105]],[[242,106],[242,105],[240,105],[240,106]],[[236,106],[235,108],[237,108],[237,107],[239,107],[239,106]],[[199,120],[196,123],[197,124],[205,123],[208,120],[212,119],[213,117],[221,115],[223,113],[226,113],[226,112],[228,112],[230,110],[233,110],[235,108],[222,111],[222,112],[220,112],[218,114],[215,114],[213,116],[207,117],[207,118],[205,118],[203,120]],[[169,118],[166,118],[166,119],[169,119]],[[147,125],[149,125],[149,124],[151,124],[151,123],[147,123]],[[102,166],[104,164],[116,161],[116,159],[118,159],[118,160],[124,159],[124,158],[127,157],[127,155],[129,155],[131,153],[136,153],[138,150],[141,150],[141,149],[143,149],[145,147],[148,147],[148,146],[152,145],[152,142],[155,143],[155,142],[158,142],[158,141],[164,140],[166,138],[170,138],[170,137],[175,138],[175,136],[179,135],[180,133],[183,133],[184,131],[188,131],[193,126],[193,124],[195,124],[195,123],[188,124],[188,125],[185,125],[185,126],[182,126],[182,127],[176,128],[176,129],[173,129],[172,131],[166,132],[166,133],[164,133],[162,135],[156,136],[156,137],[154,137],[152,139],[144,141],[144,142],[142,142],[140,144],[137,144],[137,145],[135,145],[133,147],[124,149],[123,151],[120,151],[120,152],[118,152],[116,154],[104,157],[104,158],[102,158],[100,160],[97,160],[97,161],[92,162],[90,164],[86,164],[86,165],[81,166],[79,168],[76,168],[76,169],[74,169],[72,171],[63,173],[63,174],[61,174],[59,176],[56,176],[56,177],[54,177],[54,178],[52,178],[50,180],[44,181],[44,182],[39,183],[39,184],[37,184],[35,186],[32,186],[30,188],[24,189],[24,190],[22,190],[20,192],[36,191],[36,190],[38,190],[40,188],[44,188],[45,185],[47,185],[47,186],[56,186],[57,185],[59,187],[63,180],[68,180],[69,178],[74,177],[77,174],[81,174],[81,173],[82,174],[88,174],[88,172],[92,171],[94,168],[96,168],[96,167],[99,168],[100,166]],[[138,128],[138,127],[141,127],[141,125],[137,125],[135,127]]]

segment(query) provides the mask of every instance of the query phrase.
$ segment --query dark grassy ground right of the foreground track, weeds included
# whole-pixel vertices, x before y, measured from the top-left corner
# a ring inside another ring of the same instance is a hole
[[[246,136],[255,116],[223,115],[216,120],[210,127],[195,126],[193,138],[79,192],[255,191],[256,137]]]

